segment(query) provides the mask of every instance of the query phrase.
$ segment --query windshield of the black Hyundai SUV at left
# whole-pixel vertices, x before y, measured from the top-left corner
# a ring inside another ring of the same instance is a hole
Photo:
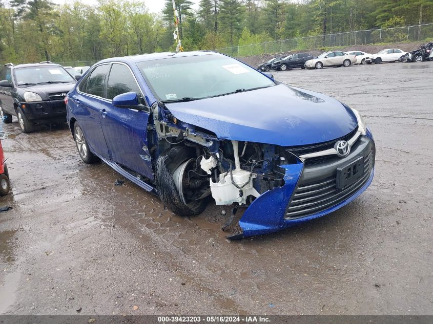
[[[62,67],[27,67],[14,70],[17,85],[70,83],[75,80]]]

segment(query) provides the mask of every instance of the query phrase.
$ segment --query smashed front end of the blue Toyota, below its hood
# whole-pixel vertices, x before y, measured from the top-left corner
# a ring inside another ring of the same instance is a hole
[[[153,111],[156,145],[150,150],[158,156],[159,197],[178,215],[199,214],[210,197],[216,205],[231,206],[222,226],[231,228],[230,239],[275,232],[332,212],[373,179],[375,146],[362,123],[332,141],[283,146],[217,136],[176,118],[161,102]],[[342,141],[350,151],[344,157],[336,148]],[[353,181],[339,179],[345,167],[358,171]],[[239,226],[230,226],[239,207],[244,209]]]

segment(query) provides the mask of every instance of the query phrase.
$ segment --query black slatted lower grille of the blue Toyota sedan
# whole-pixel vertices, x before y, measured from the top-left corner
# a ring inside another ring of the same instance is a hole
[[[364,156],[362,178],[342,190],[336,187],[336,171],[332,176],[298,184],[286,209],[285,219],[296,219],[321,212],[354,195],[372,175],[374,161],[375,149],[372,146],[368,155]]]

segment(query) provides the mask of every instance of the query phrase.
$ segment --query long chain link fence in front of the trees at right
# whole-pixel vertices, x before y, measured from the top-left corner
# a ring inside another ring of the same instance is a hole
[[[377,45],[393,42],[428,41],[431,39],[433,39],[433,23],[266,41],[259,44],[216,49],[215,52],[235,57],[244,57],[294,50],[321,50],[340,46]]]

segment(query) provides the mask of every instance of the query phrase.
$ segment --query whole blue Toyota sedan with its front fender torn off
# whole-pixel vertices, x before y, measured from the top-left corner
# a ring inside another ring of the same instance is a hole
[[[374,175],[356,110],[218,53],[105,59],[65,101],[84,162],[101,159],[181,216],[211,197],[233,206],[227,223],[247,207],[232,239],[337,210]]]

